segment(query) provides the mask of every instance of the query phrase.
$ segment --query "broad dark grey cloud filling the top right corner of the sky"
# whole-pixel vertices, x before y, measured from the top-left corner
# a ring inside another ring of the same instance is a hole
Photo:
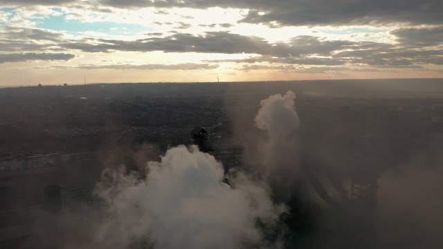
[[[368,24],[439,24],[441,1],[279,1],[274,8],[252,8],[242,20],[270,26],[347,26]],[[271,7],[271,6],[269,6]],[[264,11],[260,15],[260,11]]]

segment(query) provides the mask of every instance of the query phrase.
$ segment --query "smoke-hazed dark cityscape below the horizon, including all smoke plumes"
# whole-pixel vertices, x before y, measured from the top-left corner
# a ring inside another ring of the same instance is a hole
[[[0,245],[441,248],[442,83],[0,89]]]

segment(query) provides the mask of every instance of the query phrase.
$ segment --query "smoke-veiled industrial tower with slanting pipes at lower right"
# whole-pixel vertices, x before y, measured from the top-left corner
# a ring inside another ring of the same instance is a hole
[[[345,187],[329,167],[315,159],[302,156],[302,171],[318,196],[329,204],[343,222],[355,231],[349,241],[364,241],[363,248],[375,248],[377,241],[377,174],[357,168]]]

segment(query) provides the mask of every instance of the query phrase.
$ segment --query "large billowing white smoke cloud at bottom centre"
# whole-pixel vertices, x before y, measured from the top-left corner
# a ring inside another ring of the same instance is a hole
[[[130,248],[142,240],[162,249],[273,247],[257,219],[272,226],[286,212],[271,201],[266,184],[240,172],[225,176],[197,147],[168,150],[161,162],[147,164],[146,178],[107,170],[95,194],[102,214],[87,244],[73,248]]]

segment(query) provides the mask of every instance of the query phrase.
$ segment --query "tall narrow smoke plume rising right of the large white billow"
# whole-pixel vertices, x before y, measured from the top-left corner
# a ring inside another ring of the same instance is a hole
[[[298,174],[298,141],[296,129],[300,120],[295,109],[296,95],[292,91],[275,94],[260,102],[255,116],[255,124],[266,131],[267,138],[260,143],[264,178],[270,183],[278,183],[279,188],[287,189]],[[284,190],[275,190],[284,192]],[[280,195],[281,193],[277,193]]]

